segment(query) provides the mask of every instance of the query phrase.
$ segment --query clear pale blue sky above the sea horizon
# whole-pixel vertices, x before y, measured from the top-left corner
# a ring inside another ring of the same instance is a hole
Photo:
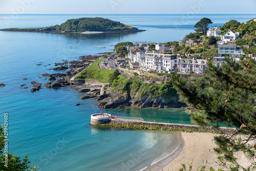
[[[256,14],[256,0],[0,0],[0,14]]]

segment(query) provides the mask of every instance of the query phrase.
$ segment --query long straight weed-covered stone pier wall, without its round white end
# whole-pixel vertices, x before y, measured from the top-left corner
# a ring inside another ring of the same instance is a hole
[[[210,132],[231,134],[236,129],[228,127],[219,127],[216,129],[212,126],[201,127],[197,125],[163,123],[163,122],[146,122],[132,119],[111,120],[108,124],[102,126],[116,127],[120,129],[139,129],[139,130],[165,130],[165,131],[187,131],[187,132]]]

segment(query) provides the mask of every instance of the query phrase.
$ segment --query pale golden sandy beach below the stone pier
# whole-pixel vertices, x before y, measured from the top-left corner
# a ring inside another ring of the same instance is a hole
[[[181,168],[181,163],[191,163],[193,160],[193,170],[203,163],[206,164],[206,170],[209,170],[210,167],[213,168],[222,168],[215,161],[217,161],[218,155],[214,152],[214,136],[217,134],[210,133],[181,133],[184,140],[184,148],[181,154],[174,159],[170,160],[170,163],[163,168],[163,170],[179,170]],[[210,151],[209,151],[210,150]],[[206,163],[207,160],[207,163]],[[156,168],[152,168],[156,170]],[[162,170],[162,167],[159,165],[157,170]]]

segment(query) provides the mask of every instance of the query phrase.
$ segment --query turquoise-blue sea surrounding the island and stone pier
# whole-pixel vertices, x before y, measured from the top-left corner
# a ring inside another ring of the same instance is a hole
[[[81,103],[76,88],[41,89],[31,93],[31,81],[46,83],[44,73],[54,62],[82,55],[109,52],[121,41],[166,42],[182,39],[201,18],[212,26],[230,19],[247,22],[255,15],[0,15],[0,29],[45,27],[70,18],[105,17],[145,32],[133,34],[52,34],[0,31],[0,124],[8,113],[8,151],[28,155],[38,170],[141,170],[172,154],[180,143],[176,132],[130,131],[91,127],[90,115],[98,113],[94,99]],[[37,66],[37,64],[41,64]],[[50,64],[50,66],[49,66]],[[41,78],[39,78],[41,77]],[[24,80],[27,78],[27,80]],[[48,78],[48,77],[47,77]],[[29,89],[20,89],[20,85]],[[67,91],[69,90],[69,91]],[[191,124],[176,109],[126,108],[107,110],[146,121]]]

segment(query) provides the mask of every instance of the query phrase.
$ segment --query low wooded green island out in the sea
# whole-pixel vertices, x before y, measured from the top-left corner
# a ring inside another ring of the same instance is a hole
[[[60,26],[50,26],[43,28],[10,28],[1,31],[22,31],[22,32],[52,32],[52,33],[124,33],[124,32],[141,32],[136,27],[128,26],[120,22],[116,22],[107,18],[77,18],[68,19]]]

